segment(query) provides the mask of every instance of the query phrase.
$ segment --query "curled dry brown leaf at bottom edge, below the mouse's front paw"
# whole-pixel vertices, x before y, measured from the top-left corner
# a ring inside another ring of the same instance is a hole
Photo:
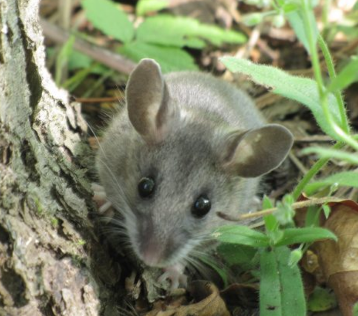
[[[193,304],[173,306],[159,304],[146,316],[229,316],[225,302],[220,296],[218,288],[210,282],[192,282],[188,291],[194,297]]]

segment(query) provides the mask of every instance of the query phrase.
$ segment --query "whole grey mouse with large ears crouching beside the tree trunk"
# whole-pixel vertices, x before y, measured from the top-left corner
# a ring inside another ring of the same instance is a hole
[[[217,213],[251,212],[261,176],[292,144],[292,133],[267,124],[233,84],[201,72],[164,75],[142,59],[96,154],[100,213],[119,212],[114,225],[137,258],[163,268],[172,288],[185,285],[192,253],[227,224]]]

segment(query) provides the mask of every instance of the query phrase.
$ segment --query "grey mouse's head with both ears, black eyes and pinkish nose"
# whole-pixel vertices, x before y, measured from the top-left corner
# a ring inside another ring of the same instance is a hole
[[[247,206],[248,178],[285,159],[292,134],[282,126],[232,130],[207,113],[191,113],[170,97],[159,65],[142,60],[127,90],[130,123],[139,138],[131,216],[125,216],[137,256],[150,266],[183,260],[211,229],[218,211]],[[246,212],[247,209],[242,209]]]

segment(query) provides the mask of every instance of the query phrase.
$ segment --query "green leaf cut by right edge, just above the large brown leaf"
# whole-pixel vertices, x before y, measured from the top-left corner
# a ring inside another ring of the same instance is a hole
[[[312,195],[319,188],[327,185],[332,185],[335,183],[339,186],[351,186],[351,187],[358,188],[358,172],[354,172],[354,171],[338,172],[325,179],[320,179],[316,182],[309,183],[305,187],[305,191],[307,192],[308,195]]]

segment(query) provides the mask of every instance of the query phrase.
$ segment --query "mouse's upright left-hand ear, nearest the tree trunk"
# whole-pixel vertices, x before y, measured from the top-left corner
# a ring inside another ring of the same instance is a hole
[[[142,59],[129,77],[126,89],[129,119],[148,142],[159,143],[167,135],[177,107],[169,107],[169,92],[160,66],[153,59]]]

